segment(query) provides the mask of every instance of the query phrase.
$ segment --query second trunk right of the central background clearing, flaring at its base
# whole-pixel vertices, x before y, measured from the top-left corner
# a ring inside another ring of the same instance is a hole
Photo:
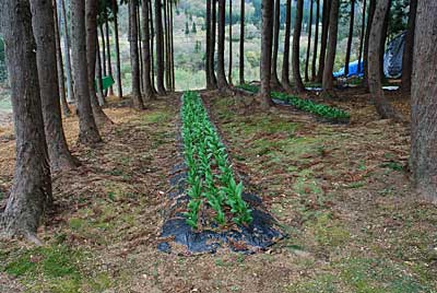
[[[226,0],[218,0],[217,86],[221,92],[226,92],[228,87],[225,73],[225,11]]]

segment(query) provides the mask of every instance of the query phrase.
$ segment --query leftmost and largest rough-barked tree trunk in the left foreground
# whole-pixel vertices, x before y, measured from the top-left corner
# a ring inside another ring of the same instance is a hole
[[[0,31],[7,45],[16,145],[13,186],[0,213],[0,236],[36,239],[40,219],[51,202],[51,180],[28,1],[0,2]]]

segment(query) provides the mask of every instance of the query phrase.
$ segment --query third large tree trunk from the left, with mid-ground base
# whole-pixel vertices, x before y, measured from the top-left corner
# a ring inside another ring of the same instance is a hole
[[[79,142],[94,144],[101,142],[91,106],[88,66],[86,54],[85,3],[83,0],[71,0],[71,57],[74,77],[74,94],[79,115]],[[95,54],[95,51],[94,51]],[[95,98],[95,96],[93,96]]]

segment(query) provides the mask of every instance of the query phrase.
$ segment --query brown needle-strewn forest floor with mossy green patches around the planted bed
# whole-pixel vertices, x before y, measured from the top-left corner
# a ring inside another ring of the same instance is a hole
[[[351,113],[331,125],[279,106],[203,92],[234,168],[287,237],[265,253],[175,255],[156,249],[177,148],[177,95],[135,112],[106,109],[104,143],[75,143],[76,171],[54,174],[46,244],[0,242],[0,292],[437,292],[437,209],[409,181],[409,127],[379,120],[368,95],[326,102]],[[409,101],[390,94],[408,115]],[[14,141],[0,128],[1,198]]]

